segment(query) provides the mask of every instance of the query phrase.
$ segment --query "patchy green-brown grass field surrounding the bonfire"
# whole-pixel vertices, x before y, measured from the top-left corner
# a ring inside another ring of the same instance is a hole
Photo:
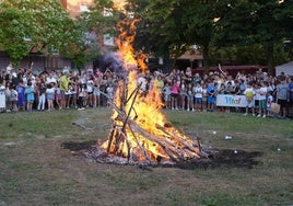
[[[203,145],[262,152],[260,163],[208,170],[98,164],[60,145],[106,139],[110,110],[0,114],[0,205],[293,205],[292,119],[164,112]]]

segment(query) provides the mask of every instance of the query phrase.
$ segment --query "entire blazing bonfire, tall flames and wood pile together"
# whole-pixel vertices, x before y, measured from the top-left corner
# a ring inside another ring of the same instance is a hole
[[[121,72],[115,99],[109,100],[114,124],[108,139],[97,144],[91,156],[101,162],[144,165],[198,160],[204,157],[199,141],[180,134],[166,121],[160,112],[163,103],[155,84],[148,92],[142,90],[144,82],[139,79],[146,66],[145,56],[134,54],[131,46],[136,22],[127,20],[119,24],[117,56],[122,62],[119,67],[127,72]]]

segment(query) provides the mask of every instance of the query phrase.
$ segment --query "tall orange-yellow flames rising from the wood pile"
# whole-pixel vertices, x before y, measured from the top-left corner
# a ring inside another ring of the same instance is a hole
[[[156,84],[153,83],[146,94],[139,90],[139,77],[146,72],[148,66],[145,65],[146,55],[136,53],[132,47],[137,22],[139,20],[127,19],[118,24],[120,35],[116,44],[125,64],[124,67],[129,75],[127,84],[119,81],[114,100],[118,108],[124,107],[127,121],[133,122],[137,128],[131,129],[127,126],[126,121],[120,118],[121,114],[114,110],[112,118],[115,129],[112,130],[102,148],[122,157],[128,157],[129,152],[132,152],[140,162],[146,160],[156,162],[157,158],[173,161],[178,158],[178,156],[172,156],[174,159],[171,159],[169,153],[174,153],[174,150],[178,150],[183,159],[197,158],[199,149],[194,148],[194,141],[172,127],[161,113],[163,102]],[[171,148],[166,149],[166,146]],[[186,147],[192,148],[191,151],[184,151],[183,148]]]

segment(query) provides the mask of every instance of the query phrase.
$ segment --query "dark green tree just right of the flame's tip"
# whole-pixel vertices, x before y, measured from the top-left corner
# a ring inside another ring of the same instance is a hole
[[[216,7],[218,1],[204,0],[132,0],[130,8],[142,19],[138,26],[138,45],[149,53],[175,59],[198,45],[208,72]]]

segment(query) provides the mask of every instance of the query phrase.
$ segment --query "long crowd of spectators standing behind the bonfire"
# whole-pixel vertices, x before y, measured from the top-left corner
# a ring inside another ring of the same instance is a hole
[[[108,106],[114,98],[119,76],[109,69],[84,70],[82,73],[63,70],[43,71],[34,75],[30,69],[14,69],[9,66],[0,73],[0,92],[5,95],[2,112],[54,111]],[[271,105],[280,105],[279,114],[289,115],[293,106],[293,78],[282,73],[269,76],[261,69],[256,73],[238,72],[232,77],[225,71],[199,75],[189,67],[173,69],[164,73],[146,71],[140,73],[138,82],[143,92],[156,87],[162,94],[165,108],[190,112],[230,112],[239,107],[216,105],[219,94],[244,95],[247,101],[245,115],[257,117],[273,115]],[[107,95],[103,95],[103,93]]]

